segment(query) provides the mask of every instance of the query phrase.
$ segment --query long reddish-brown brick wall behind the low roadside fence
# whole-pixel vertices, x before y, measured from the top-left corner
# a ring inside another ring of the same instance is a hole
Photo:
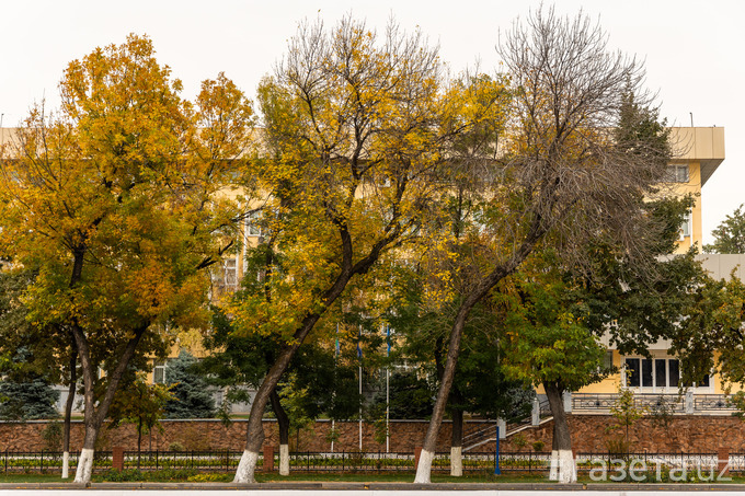
[[[572,443],[575,450],[585,452],[606,451],[606,442],[614,437],[620,437],[622,431],[608,431],[612,418],[607,415],[569,415],[572,431]],[[163,420],[163,430],[153,431],[152,436],[142,438],[142,449],[168,450],[171,445],[179,443],[186,450],[199,449],[231,449],[242,450],[245,443],[245,420],[233,422],[229,427],[217,420]],[[466,431],[479,429],[480,423],[468,423]],[[45,422],[26,424],[0,423],[0,451],[41,450],[46,449],[42,437],[47,427]],[[319,420],[290,440],[295,450],[299,442],[300,450],[328,451],[330,442],[328,432],[330,422]],[[413,452],[420,446],[426,432],[427,423],[424,420],[393,420],[391,422],[391,451]],[[334,449],[337,451],[357,450],[359,446],[359,426],[357,422],[336,423],[340,434]],[[549,422],[539,427],[528,428],[522,434],[527,440],[527,448],[536,440],[551,447],[553,423]],[[278,445],[278,430],[275,422],[264,422],[266,435],[265,445]],[[73,451],[81,448],[83,425],[81,422],[72,424],[71,447]],[[122,446],[125,449],[137,447],[137,430],[133,425],[123,425],[116,429],[104,429],[100,436],[99,449],[111,449]],[[375,441],[375,428],[371,424],[363,424],[363,450],[383,451],[385,442]],[[731,452],[745,451],[745,425],[743,420],[731,416],[676,416],[667,426],[660,425],[651,418],[637,420],[629,429],[632,449],[638,451],[687,451],[717,452],[720,448],[727,448]],[[502,449],[515,449],[514,437],[502,442]],[[445,422],[438,436],[437,449],[446,451],[450,446],[450,424]],[[493,443],[484,445],[480,450],[493,450]]]

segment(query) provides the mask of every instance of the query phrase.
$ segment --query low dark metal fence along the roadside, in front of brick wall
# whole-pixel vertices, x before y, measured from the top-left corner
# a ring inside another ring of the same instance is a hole
[[[70,470],[78,464],[78,454],[70,453]],[[238,466],[242,451],[125,451],[124,468],[144,471],[158,470],[193,470],[197,472],[232,472]],[[58,473],[62,468],[62,453],[56,451],[4,451],[2,470],[11,473]],[[730,472],[745,473],[745,452],[730,453]],[[717,453],[621,453],[607,452],[577,453],[578,471],[589,471],[594,466],[606,464],[612,468],[619,463],[643,464],[667,469],[715,469],[719,464]],[[257,470],[263,470],[263,455],[260,454]],[[415,457],[411,452],[291,452],[289,455],[290,472],[336,472],[336,473],[392,473],[413,472]],[[279,465],[278,453],[274,454],[274,470]],[[500,469],[502,472],[545,472],[550,469],[550,452],[502,452]],[[99,451],[94,455],[93,470],[102,472],[112,468],[112,452]],[[493,473],[495,453],[466,452],[462,454],[463,473]],[[432,463],[434,472],[446,473],[450,470],[450,453],[438,452]]]

